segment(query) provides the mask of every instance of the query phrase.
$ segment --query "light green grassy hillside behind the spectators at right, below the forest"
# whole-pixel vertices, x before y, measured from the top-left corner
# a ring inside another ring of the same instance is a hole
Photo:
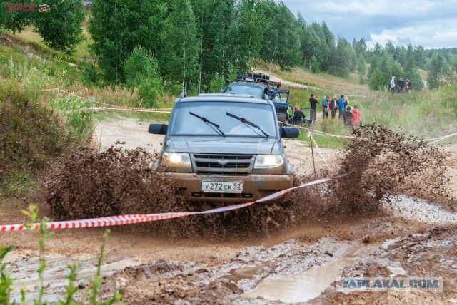
[[[257,68],[268,71],[269,66],[257,62]],[[426,71],[422,71],[426,76]],[[348,95],[349,105],[358,105],[362,113],[363,123],[376,122],[386,125],[406,135],[420,138],[435,138],[457,131],[457,84],[451,83],[435,91],[414,91],[401,95],[381,91],[372,91],[368,86],[358,83],[354,75],[351,78],[338,78],[326,73],[313,74],[302,68],[295,68],[291,73],[280,71],[277,67],[271,69],[271,74],[286,81],[300,83],[313,88],[291,88],[290,101],[292,105],[309,107],[308,99],[311,93],[318,95],[319,101],[324,95]],[[322,107],[318,105],[318,115]],[[345,128],[341,120],[318,119],[314,127],[329,133],[348,134],[351,130]],[[303,137],[304,140],[304,137]],[[336,139],[321,139],[324,146],[338,146],[341,141]],[[443,143],[457,143],[452,138]]]

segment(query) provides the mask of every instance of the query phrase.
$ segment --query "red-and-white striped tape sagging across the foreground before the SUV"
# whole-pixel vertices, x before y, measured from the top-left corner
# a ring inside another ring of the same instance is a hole
[[[253,205],[255,203],[266,202],[268,200],[273,200],[282,195],[286,194],[287,192],[291,192],[292,190],[296,190],[301,187],[308,187],[311,185],[318,185],[320,183],[329,182],[331,180],[335,180],[346,176],[347,174],[338,175],[335,177],[323,178],[314,180],[312,182],[304,183],[302,185],[298,185],[296,187],[291,187],[286,190],[282,190],[280,192],[276,192],[274,194],[268,195],[263,197],[259,200],[253,202],[246,202],[241,203],[238,205],[229,205],[228,207],[218,207],[216,209],[206,210],[204,212],[169,212],[169,213],[159,213],[159,214],[128,214],[128,215],[120,215],[120,216],[110,216],[110,217],[100,217],[100,218],[92,218],[92,219],[81,219],[81,220],[69,220],[63,222],[46,222],[44,227],[46,229],[77,229],[77,228],[89,228],[89,227],[110,227],[110,226],[118,226],[121,224],[138,224],[141,222],[156,222],[159,220],[164,219],[171,219],[171,218],[179,218],[179,217],[186,217],[195,214],[213,214],[219,212],[227,212],[231,210],[238,210],[243,207],[248,207],[249,205]],[[0,232],[12,232],[12,231],[23,231],[25,229],[29,230],[38,230],[40,229],[41,224],[6,224],[0,225]]]

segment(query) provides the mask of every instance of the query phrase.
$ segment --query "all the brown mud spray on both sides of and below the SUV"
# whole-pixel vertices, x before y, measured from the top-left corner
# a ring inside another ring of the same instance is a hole
[[[129,229],[154,230],[168,238],[251,238],[276,234],[303,223],[345,221],[382,213],[384,195],[406,194],[448,198],[446,157],[436,147],[404,138],[378,125],[360,125],[341,153],[340,173],[346,177],[294,192],[291,202],[255,205],[224,214],[171,219]],[[61,158],[48,175],[49,203],[57,219],[81,219],[115,214],[207,210],[208,205],[184,202],[160,172],[151,170],[157,154],[144,148],[111,147],[82,150]],[[296,178],[295,185],[327,177],[328,172]],[[424,180],[423,178],[427,179]]]

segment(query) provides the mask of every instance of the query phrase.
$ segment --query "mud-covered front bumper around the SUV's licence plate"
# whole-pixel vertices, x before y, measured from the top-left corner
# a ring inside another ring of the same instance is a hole
[[[251,202],[293,186],[293,175],[215,176],[184,172],[166,172],[165,175],[174,182],[178,195],[189,201]],[[243,182],[243,192],[202,192],[202,181]],[[290,198],[291,192],[288,192],[276,201],[285,202]]]

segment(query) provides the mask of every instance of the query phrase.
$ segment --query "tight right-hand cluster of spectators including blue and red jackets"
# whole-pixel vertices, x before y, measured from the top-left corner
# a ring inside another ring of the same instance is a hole
[[[328,119],[328,113],[330,118],[336,118],[336,111],[338,110],[338,118],[343,119],[345,125],[355,125],[358,123],[361,117],[361,113],[358,111],[357,106],[349,106],[349,100],[346,95],[341,94],[340,97],[333,94],[333,98],[330,96],[324,96],[322,100],[322,117],[323,120]]]

